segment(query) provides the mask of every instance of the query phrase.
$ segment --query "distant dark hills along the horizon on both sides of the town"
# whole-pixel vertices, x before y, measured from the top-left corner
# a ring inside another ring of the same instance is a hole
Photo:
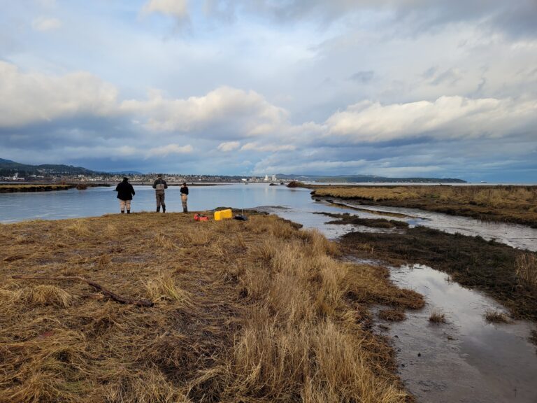
[[[73,165],[64,164],[42,164],[30,165],[20,164],[11,160],[3,160],[0,158],[0,176],[13,176],[15,173],[19,176],[53,176],[53,175],[141,175],[138,171],[119,171],[119,172],[103,172],[92,171],[84,167],[73,167]],[[221,178],[229,178],[230,180],[240,180],[241,176],[221,175]],[[387,178],[385,176],[375,175],[339,175],[339,176],[322,176],[322,175],[276,175],[279,181],[281,180],[298,180],[303,182],[329,182],[329,183],[371,183],[371,182],[390,182],[390,183],[466,183],[461,179],[455,178]]]

